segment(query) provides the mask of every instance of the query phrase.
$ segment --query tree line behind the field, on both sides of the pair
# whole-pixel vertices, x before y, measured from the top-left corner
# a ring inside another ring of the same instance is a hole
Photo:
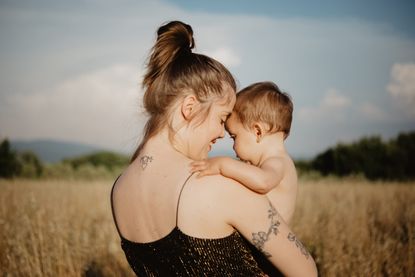
[[[0,144],[0,177],[13,178],[113,178],[127,166],[125,155],[97,152],[43,164],[32,152],[16,152],[7,139]],[[364,137],[350,144],[337,144],[308,161],[296,161],[300,173],[363,175],[370,180],[415,179],[415,131],[383,141]]]

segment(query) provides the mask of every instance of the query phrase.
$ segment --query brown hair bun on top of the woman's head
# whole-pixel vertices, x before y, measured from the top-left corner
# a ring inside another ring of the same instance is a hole
[[[157,40],[167,37],[182,49],[191,51],[195,46],[192,27],[181,21],[170,21],[157,30]]]

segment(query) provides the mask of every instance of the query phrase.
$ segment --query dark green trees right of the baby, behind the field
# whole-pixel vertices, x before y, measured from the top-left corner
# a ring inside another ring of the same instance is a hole
[[[323,176],[364,175],[370,180],[413,180],[415,178],[415,132],[400,133],[383,141],[365,137],[350,144],[337,144],[310,161],[296,163],[301,172],[317,171]]]

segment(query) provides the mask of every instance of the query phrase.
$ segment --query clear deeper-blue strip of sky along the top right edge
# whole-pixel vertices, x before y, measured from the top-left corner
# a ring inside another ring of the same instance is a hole
[[[387,24],[395,31],[415,36],[415,2],[398,0],[234,0],[192,1],[170,0],[180,7],[192,11],[209,11],[222,14],[262,15],[272,18],[355,18],[376,24]]]

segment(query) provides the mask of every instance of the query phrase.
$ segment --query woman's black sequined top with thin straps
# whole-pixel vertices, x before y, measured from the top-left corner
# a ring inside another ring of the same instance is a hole
[[[237,231],[219,239],[191,237],[177,227],[177,213],[176,227],[157,241],[138,243],[120,232],[119,235],[127,261],[137,276],[267,276]]]

